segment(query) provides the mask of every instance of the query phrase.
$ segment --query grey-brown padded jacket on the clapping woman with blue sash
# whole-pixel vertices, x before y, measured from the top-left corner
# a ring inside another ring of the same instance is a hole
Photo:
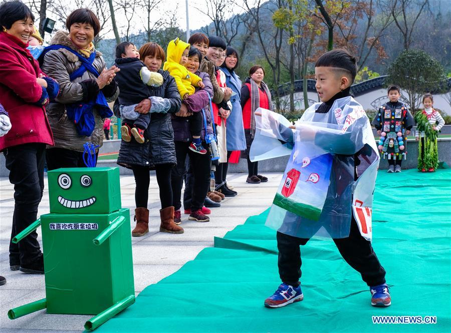
[[[64,45],[75,51],[77,47],[72,43],[68,34],[58,31],[52,38],[50,45]],[[83,55],[82,55],[83,56]],[[42,70],[60,84],[60,94],[54,103],[47,106],[47,117],[53,131],[55,147],[76,151],[84,151],[83,144],[92,142],[94,145],[103,145],[103,119],[97,109],[93,109],[96,126],[91,136],[78,134],[75,124],[68,119],[66,104],[75,102],[87,102],[97,96],[99,87],[94,80],[96,77],[86,71],[81,77],[70,81],[69,75],[81,65],[76,55],[66,49],[52,50],[46,53],[43,59]],[[106,68],[102,54],[97,51],[93,66],[99,73]],[[110,87],[111,86],[111,87]],[[107,102],[113,102],[119,95],[116,83],[105,86],[102,89]],[[48,147],[52,148],[52,147]]]

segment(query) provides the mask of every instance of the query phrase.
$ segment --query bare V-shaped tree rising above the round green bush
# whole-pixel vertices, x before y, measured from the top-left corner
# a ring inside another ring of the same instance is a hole
[[[391,0],[391,16],[402,34],[405,50],[412,44],[416,22],[428,5],[429,0]]]

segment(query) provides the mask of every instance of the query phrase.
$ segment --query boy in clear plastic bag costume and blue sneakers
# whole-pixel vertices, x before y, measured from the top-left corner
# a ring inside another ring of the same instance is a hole
[[[278,230],[282,280],[265,300],[267,307],[303,299],[299,246],[315,234],[333,238],[346,262],[370,287],[371,305],[391,304],[385,270],[371,247],[379,155],[368,118],[349,95],[355,74],[355,59],[347,52],[327,52],[315,65],[316,89],[323,103],[307,109],[295,127],[276,113],[257,110],[261,117],[256,117],[251,159],[291,153],[266,223]]]

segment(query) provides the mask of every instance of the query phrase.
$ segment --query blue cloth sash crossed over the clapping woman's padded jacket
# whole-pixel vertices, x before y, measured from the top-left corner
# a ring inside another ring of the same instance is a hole
[[[89,56],[89,58],[85,58],[81,56],[78,52],[72,50],[67,46],[51,45],[45,48],[42,57],[44,57],[44,55],[51,50],[59,50],[59,49],[66,49],[72,52],[81,61],[81,66],[69,75],[69,79],[71,80],[71,82],[74,81],[76,78],[81,77],[86,71],[89,71],[92,74],[94,74],[96,78],[99,76],[99,72],[97,72],[95,67],[92,65],[94,59],[96,58],[96,51],[93,51]],[[66,105],[67,117],[70,120],[74,121],[75,128],[77,129],[79,135],[91,136],[92,131],[94,131],[94,128],[96,126],[93,114],[94,108],[98,110],[99,115],[102,118],[109,118],[113,115],[113,112],[111,112],[102,91],[99,91],[95,100],[88,102],[71,103]]]

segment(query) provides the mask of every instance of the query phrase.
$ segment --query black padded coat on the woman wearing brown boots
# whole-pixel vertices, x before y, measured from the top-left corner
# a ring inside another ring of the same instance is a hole
[[[174,131],[171,124],[171,114],[180,109],[181,99],[177,85],[169,72],[159,70],[163,76],[160,87],[149,87],[149,97],[156,96],[169,100],[170,108],[166,114],[151,113],[150,124],[144,132],[144,143],[122,140],[117,164],[132,169],[134,166],[149,167],[154,170],[156,165],[177,165],[175,157]],[[114,113],[120,117],[118,104],[115,104]]]

